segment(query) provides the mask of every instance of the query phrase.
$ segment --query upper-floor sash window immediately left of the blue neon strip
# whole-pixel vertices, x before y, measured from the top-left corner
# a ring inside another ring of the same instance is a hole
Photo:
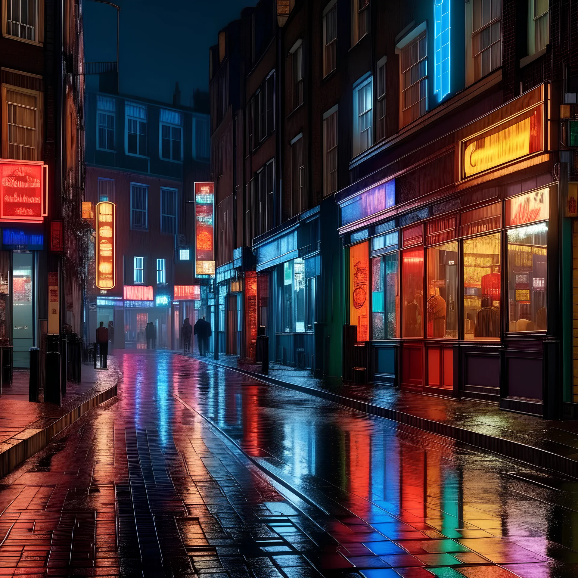
[[[401,49],[401,126],[427,112],[427,31]]]

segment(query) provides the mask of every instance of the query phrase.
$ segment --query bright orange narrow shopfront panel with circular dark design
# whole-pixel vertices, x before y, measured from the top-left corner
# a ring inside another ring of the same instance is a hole
[[[358,342],[369,339],[369,243],[349,249],[349,323],[357,326]]]

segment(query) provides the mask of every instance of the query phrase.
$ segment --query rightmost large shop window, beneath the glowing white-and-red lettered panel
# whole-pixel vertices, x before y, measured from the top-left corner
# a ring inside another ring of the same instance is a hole
[[[507,232],[509,331],[546,331],[548,225]]]

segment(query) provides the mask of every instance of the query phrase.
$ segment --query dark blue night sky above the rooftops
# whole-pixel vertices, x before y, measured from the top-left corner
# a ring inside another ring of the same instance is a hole
[[[181,103],[208,90],[209,46],[217,32],[257,0],[111,0],[120,11],[120,92]],[[116,10],[83,0],[86,62],[116,60]],[[90,78],[87,79],[90,83]]]

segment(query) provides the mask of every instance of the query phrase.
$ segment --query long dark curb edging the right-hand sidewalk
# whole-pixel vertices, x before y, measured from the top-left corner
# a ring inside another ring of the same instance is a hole
[[[189,356],[187,355],[184,357]],[[451,438],[457,440],[458,442],[466,443],[469,446],[476,447],[477,449],[490,451],[494,454],[525,462],[526,464],[530,464],[538,468],[555,470],[556,472],[563,473],[567,476],[578,477],[577,461],[570,460],[570,458],[566,458],[563,455],[554,454],[551,451],[542,450],[538,447],[529,446],[528,444],[520,442],[514,442],[513,440],[505,438],[498,438],[497,436],[488,435],[487,433],[473,432],[469,429],[460,428],[455,425],[428,420],[424,417],[414,416],[410,413],[389,409],[388,407],[381,407],[378,405],[373,405],[373,403],[344,397],[343,395],[332,394],[329,391],[321,391],[313,387],[300,386],[295,383],[290,383],[289,381],[283,381],[276,379],[275,377],[263,375],[262,373],[255,373],[246,369],[234,368],[212,360],[205,361],[199,360],[197,357],[190,357],[197,361],[205,362],[206,364],[215,365],[223,369],[230,369],[231,371],[242,373],[243,375],[253,377],[253,379],[257,379],[263,383],[284,387],[286,389],[313,395],[314,397],[325,399],[327,401],[339,403],[339,405],[349,407],[350,409],[357,410],[358,412],[367,413],[377,417],[384,417],[388,420],[397,421],[398,423],[404,425],[410,425],[411,427],[422,429],[423,431],[427,431],[429,433],[435,433],[436,435],[444,436],[446,438]]]

